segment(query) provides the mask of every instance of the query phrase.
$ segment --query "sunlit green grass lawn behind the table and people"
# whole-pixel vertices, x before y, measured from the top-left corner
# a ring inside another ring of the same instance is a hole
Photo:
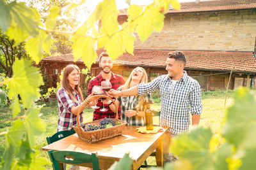
[[[203,111],[200,118],[200,125],[204,127],[211,127],[212,132],[218,132],[221,125],[221,120],[223,113],[225,112],[225,91],[208,91],[202,93],[202,103]],[[227,93],[227,106],[232,104],[232,96],[234,92],[228,91]],[[155,92],[153,95],[154,105],[152,108],[155,110],[160,109],[160,99],[158,92]],[[0,121],[5,120],[6,118],[12,117],[12,112],[9,108],[0,108]],[[46,136],[51,136],[56,132],[57,121],[58,121],[58,104],[56,101],[51,103],[46,103],[46,105],[41,110],[42,120],[46,125],[46,132],[41,136],[36,138],[36,149],[40,150],[42,157],[47,157],[47,152],[41,150],[42,146],[47,145]],[[93,109],[86,108],[84,110],[84,122],[91,122],[93,117]],[[154,118],[154,124],[158,123],[159,118]],[[8,127],[12,125],[12,121],[4,122],[0,124],[0,132],[6,131]],[[4,136],[0,136],[0,161],[3,159],[4,152]],[[156,164],[156,160],[152,157],[148,158],[148,164]],[[47,165],[47,169],[52,169],[51,164]]]

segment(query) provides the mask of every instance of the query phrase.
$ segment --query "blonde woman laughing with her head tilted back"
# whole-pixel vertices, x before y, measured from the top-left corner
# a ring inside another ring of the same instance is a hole
[[[138,85],[139,83],[147,83],[147,73],[142,67],[136,67],[132,70],[129,78],[124,85],[117,90],[125,90]],[[145,112],[143,103],[152,101],[150,94],[146,96],[120,96],[116,98],[116,105],[121,106],[121,119],[128,125],[145,125]],[[116,111],[113,103],[109,104],[112,111]]]

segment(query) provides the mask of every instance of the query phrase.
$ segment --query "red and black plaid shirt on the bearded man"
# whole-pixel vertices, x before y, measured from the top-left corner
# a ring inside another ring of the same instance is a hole
[[[105,79],[102,78],[101,73],[97,77],[93,78],[88,85],[88,91],[87,91],[88,96],[92,94],[92,87],[95,85],[101,85],[101,81],[104,81],[104,80]],[[114,73],[112,73],[111,79],[109,81],[112,84],[112,89],[115,89],[115,90],[121,85],[124,85],[125,83],[124,78],[122,76]],[[108,104],[104,104],[104,108],[108,109],[108,111],[104,111],[104,112],[100,111],[100,109],[103,108],[103,103],[100,100],[98,101],[97,106],[99,106],[100,108],[97,110],[94,110],[93,120],[99,120],[105,117],[110,117],[110,118],[116,117],[116,113],[110,110]],[[120,108],[118,109],[118,118],[121,118]]]

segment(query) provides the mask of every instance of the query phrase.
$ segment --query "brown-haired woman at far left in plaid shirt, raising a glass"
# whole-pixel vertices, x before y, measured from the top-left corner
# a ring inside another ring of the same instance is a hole
[[[79,84],[79,68],[73,64],[65,67],[63,71],[63,79],[61,81],[61,88],[56,94],[59,114],[58,131],[71,130],[72,125],[77,124],[77,116],[79,116],[79,122],[83,123],[83,114],[81,113],[83,113],[86,106],[92,106],[93,101],[97,99],[97,97],[92,94],[83,101],[84,98]]]

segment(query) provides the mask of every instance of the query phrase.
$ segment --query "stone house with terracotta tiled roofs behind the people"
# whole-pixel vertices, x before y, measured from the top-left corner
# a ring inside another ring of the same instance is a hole
[[[164,63],[168,52],[180,50],[188,60],[185,70],[204,90],[225,90],[231,71],[228,89],[255,87],[256,1],[196,1],[180,5],[180,11],[166,13],[160,33],[153,32],[144,43],[138,38],[134,56],[124,53],[118,57],[113,72],[126,78],[134,67],[141,66],[152,80],[167,73]],[[122,24],[127,15],[126,10],[120,11],[118,21]],[[51,63],[48,72],[60,74],[64,65],[72,61],[72,54],[68,54],[46,57],[42,64]],[[79,60],[77,64],[84,67]],[[99,72],[96,62],[91,74]]]

